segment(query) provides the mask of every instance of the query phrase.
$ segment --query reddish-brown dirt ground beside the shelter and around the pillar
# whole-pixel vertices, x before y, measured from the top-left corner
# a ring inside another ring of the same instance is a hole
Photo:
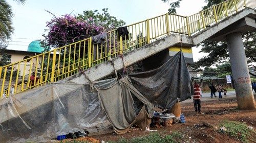
[[[254,96],[254,99],[256,97]],[[204,114],[196,115],[193,103],[181,103],[182,113],[185,115],[186,123],[174,124],[170,127],[152,128],[157,130],[160,135],[171,134],[179,131],[187,139],[185,142],[241,142],[227,134],[222,134],[220,122],[224,120],[239,121],[252,126],[256,131],[256,109],[238,110],[235,98],[225,98],[223,100],[210,100],[201,102],[202,112]],[[203,124],[204,123],[204,124]],[[205,125],[206,124],[206,125]],[[133,137],[145,136],[150,134],[149,131],[133,130],[123,135],[115,133],[95,135],[94,138],[109,141],[120,138],[131,139]],[[256,142],[256,136],[250,138],[249,142]],[[184,141],[184,140],[183,140]]]

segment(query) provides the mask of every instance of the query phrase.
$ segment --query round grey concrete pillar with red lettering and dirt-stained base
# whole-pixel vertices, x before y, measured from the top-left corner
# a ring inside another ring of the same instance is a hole
[[[249,69],[246,61],[242,35],[240,32],[226,36],[231,62],[234,87],[236,89],[239,109],[254,109],[255,101],[252,93]]]

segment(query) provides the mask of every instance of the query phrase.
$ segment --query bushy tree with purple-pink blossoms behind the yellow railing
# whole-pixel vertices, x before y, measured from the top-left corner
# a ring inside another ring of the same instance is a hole
[[[83,14],[78,16],[66,14],[61,17],[56,17],[49,12],[54,17],[47,22],[48,34],[42,34],[45,37],[45,40],[41,41],[42,46],[49,51],[51,47],[67,45],[125,25],[123,20],[117,20],[116,17],[111,16],[108,8],[102,11],[102,13],[98,10],[83,11]]]

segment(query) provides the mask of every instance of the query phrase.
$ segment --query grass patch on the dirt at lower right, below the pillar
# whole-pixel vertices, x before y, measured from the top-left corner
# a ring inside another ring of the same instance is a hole
[[[222,121],[220,123],[220,127],[225,127],[227,129],[226,133],[228,135],[236,137],[242,142],[249,142],[248,138],[251,138],[255,135],[255,132],[253,130],[249,129],[246,124],[241,122]]]

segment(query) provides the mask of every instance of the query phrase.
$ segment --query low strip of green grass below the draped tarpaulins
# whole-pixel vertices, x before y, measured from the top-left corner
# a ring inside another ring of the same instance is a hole
[[[178,142],[177,140],[182,138],[182,134],[180,132],[173,132],[170,135],[161,136],[159,133],[151,133],[147,136],[135,137],[131,140],[126,138],[121,138],[117,141],[109,141],[110,143],[164,143],[164,142]]]

